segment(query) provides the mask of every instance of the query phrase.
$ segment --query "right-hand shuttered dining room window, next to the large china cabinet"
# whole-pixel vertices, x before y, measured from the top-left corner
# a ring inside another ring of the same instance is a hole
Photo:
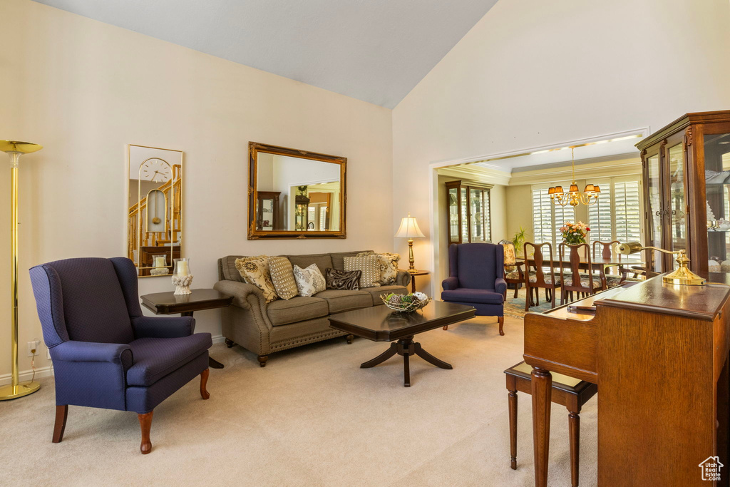
[[[597,181],[601,197],[588,207],[588,226],[591,244],[602,242],[641,241],[641,188],[638,178],[612,178]],[[640,254],[631,254],[630,261],[639,261]]]

